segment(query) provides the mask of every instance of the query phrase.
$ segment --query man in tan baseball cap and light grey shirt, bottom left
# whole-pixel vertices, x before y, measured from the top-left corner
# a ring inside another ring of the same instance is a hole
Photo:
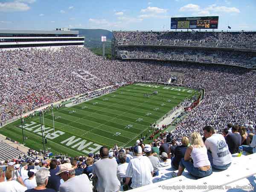
[[[71,163],[64,163],[60,166],[60,171],[56,173],[64,183],[60,185],[59,192],[92,192],[90,180],[86,174],[77,175]]]

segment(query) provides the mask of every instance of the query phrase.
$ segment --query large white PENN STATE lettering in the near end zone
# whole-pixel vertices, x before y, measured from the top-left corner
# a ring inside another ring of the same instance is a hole
[[[21,128],[21,125],[19,126]],[[37,122],[29,122],[23,125],[23,128],[26,131],[30,131],[33,134],[38,134],[38,135],[42,135],[41,133],[41,124],[37,123]],[[51,127],[45,127],[44,125],[42,125],[42,129],[43,129],[43,135],[44,137],[48,134],[47,139],[50,140],[54,140],[58,137],[64,137],[65,136],[65,132],[63,131],[53,131],[53,128]],[[60,142],[61,144],[64,144],[70,148],[75,148],[78,151],[81,151],[83,153],[89,154],[89,153],[95,153],[96,151],[99,150],[99,148],[102,147],[102,145],[98,145],[97,143],[93,143],[87,140],[82,140],[80,137],[76,138],[76,136],[71,136],[69,138],[67,138],[64,141]]]

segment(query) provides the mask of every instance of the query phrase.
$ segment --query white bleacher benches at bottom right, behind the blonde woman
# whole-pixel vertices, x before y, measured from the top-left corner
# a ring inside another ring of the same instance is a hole
[[[253,192],[256,190],[256,154],[246,155],[245,152],[243,154],[241,157],[233,154],[232,164],[227,170],[214,169],[212,175],[200,179],[193,177],[187,171],[173,178],[172,173],[177,170],[171,166],[160,168],[159,176],[153,177],[153,184],[132,189],[130,192]],[[238,189],[237,186],[244,189]]]

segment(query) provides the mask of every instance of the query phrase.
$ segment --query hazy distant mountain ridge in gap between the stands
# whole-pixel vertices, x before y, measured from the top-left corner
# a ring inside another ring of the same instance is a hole
[[[96,38],[101,40],[101,36],[107,36],[107,40],[112,40],[113,33],[105,29],[70,29],[71,31],[79,31],[79,35],[85,38]]]

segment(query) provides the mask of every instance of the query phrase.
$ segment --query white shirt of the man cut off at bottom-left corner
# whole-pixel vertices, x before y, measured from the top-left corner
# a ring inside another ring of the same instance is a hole
[[[4,181],[0,183],[0,192],[24,192],[27,188],[16,180]]]

